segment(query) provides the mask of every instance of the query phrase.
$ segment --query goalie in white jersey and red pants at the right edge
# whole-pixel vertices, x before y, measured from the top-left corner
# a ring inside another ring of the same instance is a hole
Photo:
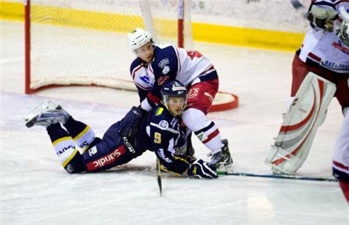
[[[348,1],[311,3],[311,30],[292,62],[288,112],[265,159],[276,173],[292,174],[302,166],[333,95],[343,114],[349,109],[348,10]]]

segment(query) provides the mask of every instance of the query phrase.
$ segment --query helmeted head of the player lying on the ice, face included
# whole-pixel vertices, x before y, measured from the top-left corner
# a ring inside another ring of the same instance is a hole
[[[166,82],[161,88],[161,103],[174,116],[179,116],[186,107],[186,87],[174,80]]]

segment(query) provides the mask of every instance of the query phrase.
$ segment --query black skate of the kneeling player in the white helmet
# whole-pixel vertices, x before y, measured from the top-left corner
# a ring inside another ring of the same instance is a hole
[[[218,153],[212,155],[210,165],[214,166],[217,170],[225,167],[227,171],[232,170],[232,157],[230,156],[230,151],[228,148],[228,140],[222,140],[223,147]]]

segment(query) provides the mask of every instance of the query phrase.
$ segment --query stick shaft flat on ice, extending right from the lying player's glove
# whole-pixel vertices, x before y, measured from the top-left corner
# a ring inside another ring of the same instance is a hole
[[[286,174],[262,174],[262,173],[240,173],[240,172],[226,172],[216,171],[218,175],[230,175],[230,176],[252,176],[258,178],[278,178],[278,179],[291,179],[291,180],[313,180],[313,181],[325,181],[325,182],[337,182],[335,178],[322,178],[311,176],[292,176]]]

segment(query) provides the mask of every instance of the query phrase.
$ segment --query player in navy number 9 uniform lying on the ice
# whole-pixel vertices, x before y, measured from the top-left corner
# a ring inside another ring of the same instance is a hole
[[[59,162],[68,173],[104,171],[126,164],[146,150],[154,151],[163,171],[177,175],[187,172],[198,178],[218,178],[214,166],[193,157],[191,132],[181,125],[181,113],[186,106],[186,88],[177,81],[166,82],[161,88],[161,103],[142,116],[132,135],[121,137],[119,125],[109,127],[103,139],[95,137],[88,125],[76,121],[61,106],[48,101],[24,117],[27,127],[46,127]],[[126,120],[127,121],[127,120]],[[137,120],[136,120],[137,121]],[[77,148],[78,147],[78,148]]]

